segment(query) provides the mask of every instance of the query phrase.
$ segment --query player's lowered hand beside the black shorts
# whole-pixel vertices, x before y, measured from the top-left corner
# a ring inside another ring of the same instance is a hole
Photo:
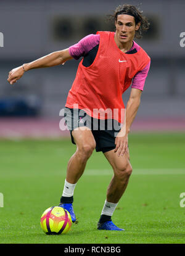
[[[128,134],[123,133],[123,131],[120,131],[115,138],[115,150],[114,152],[118,152],[118,157],[124,154],[128,154]]]

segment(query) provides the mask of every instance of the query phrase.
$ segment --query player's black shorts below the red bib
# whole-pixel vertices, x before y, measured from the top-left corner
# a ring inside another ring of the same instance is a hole
[[[72,143],[76,144],[72,131],[75,128],[86,126],[91,129],[96,141],[96,151],[107,152],[115,149],[115,137],[121,129],[120,123],[113,119],[100,120],[92,118],[81,109],[64,109],[65,123],[70,130]]]

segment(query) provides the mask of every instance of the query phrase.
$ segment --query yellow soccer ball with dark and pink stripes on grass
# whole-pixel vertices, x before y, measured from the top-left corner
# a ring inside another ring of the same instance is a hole
[[[46,234],[64,234],[69,231],[71,226],[72,217],[62,207],[50,207],[41,216],[41,228]]]

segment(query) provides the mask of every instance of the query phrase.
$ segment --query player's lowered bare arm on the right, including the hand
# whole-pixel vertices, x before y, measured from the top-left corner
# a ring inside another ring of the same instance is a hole
[[[131,124],[136,117],[141,102],[142,91],[140,89],[132,88],[130,98],[126,105],[126,125],[123,126],[115,138],[115,151],[118,151],[118,156],[128,154],[128,133],[130,132]]]

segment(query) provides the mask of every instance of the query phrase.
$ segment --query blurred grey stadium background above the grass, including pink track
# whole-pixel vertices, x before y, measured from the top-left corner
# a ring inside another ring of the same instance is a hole
[[[0,32],[0,138],[58,138],[59,129],[79,61],[64,66],[30,70],[14,86],[9,71],[46,54],[65,49],[97,30],[113,30],[106,15],[124,1],[1,1]],[[149,18],[150,30],[136,40],[151,57],[141,106],[132,131],[184,131],[185,47],[182,0],[126,1],[139,5]],[[141,4],[142,3],[142,4]],[[123,96],[127,102],[130,89]]]

